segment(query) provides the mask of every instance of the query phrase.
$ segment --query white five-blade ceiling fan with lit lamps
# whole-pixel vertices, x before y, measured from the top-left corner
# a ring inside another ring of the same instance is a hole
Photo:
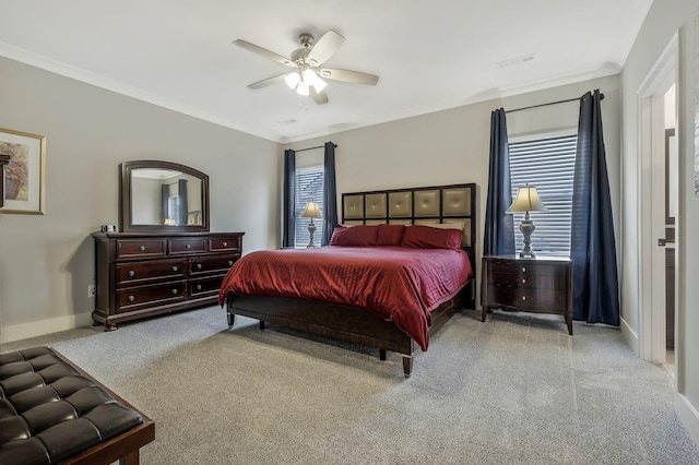
[[[250,50],[277,63],[294,68],[294,71],[291,73],[279,74],[253,82],[248,85],[248,87],[261,88],[284,81],[292,90],[296,91],[297,94],[310,95],[316,104],[322,105],[328,103],[328,94],[323,92],[328,85],[325,81],[323,81],[325,79],[366,85],[376,85],[377,82],[379,82],[379,76],[374,74],[321,68],[345,41],[345,38],[336,32],[332,29],[328,31],[318,41],[315,41],[312,35],[304,33],[298,36],[298,41],[301,48],[294,50],[291,57],[286,58],[254,44],[250,44],[249,41],[241,39],[234,40],[233,43],[238,47]]]

